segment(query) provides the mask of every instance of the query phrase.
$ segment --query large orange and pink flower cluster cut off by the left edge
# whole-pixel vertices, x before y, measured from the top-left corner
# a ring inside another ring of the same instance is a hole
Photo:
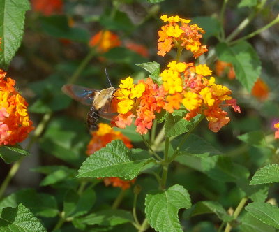
[[[0,145],[15,145],[33,130],[27,102],[16,91],[15,80],[0,69]]]

